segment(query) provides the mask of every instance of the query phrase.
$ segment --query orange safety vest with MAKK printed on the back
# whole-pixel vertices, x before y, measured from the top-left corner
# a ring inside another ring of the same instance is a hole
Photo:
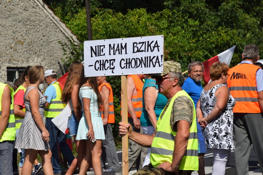
[[[257,100],[256,73],[260,67],[242,63],[229,69],[228,88],[236,100],[234,113],[261,113]]]

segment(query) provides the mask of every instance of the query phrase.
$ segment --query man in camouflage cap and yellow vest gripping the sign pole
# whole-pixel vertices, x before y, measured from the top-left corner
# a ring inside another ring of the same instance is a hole
[[[154,74],[159,92],[167,104],[157,121],[153,135],[132,131],[131,125],[119,123],[119,134],[128,134],[130,140],[151,147],[150,164],[135,174],[186,174],[198,170],[198,139],[195,108],[191,97],[182,90],[184,77],[181,65],[166,61],[164,72]],[[173,135],[171,137],[171,135]]]

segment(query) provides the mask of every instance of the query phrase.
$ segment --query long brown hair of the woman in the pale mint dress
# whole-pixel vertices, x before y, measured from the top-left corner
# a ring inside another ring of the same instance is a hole
[[[100,92],[98,90],[98,81],[97,81],[97,77],[85,77],[84,76],[84,67],[82,68],[82,72],[81,72],[81,77],[79,79],[79,89],[78,89],[78,92],[81,88],[81,86],[83,84],[85,84],[86,82],[89,82],[91,88],[94,90],[95,94],[97,95],[97,104],[98,104],[98,110],[99,112],[102,110],[102,98],[100,96]],[[78,104],[77,104],[77,108],[78,109],[81,109],[81,101],[78,97]]]

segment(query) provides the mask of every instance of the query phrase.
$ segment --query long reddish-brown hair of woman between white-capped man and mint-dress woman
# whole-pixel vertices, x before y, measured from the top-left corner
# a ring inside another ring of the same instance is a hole
[[[62,101],[68,102],[68,100],[70,99],[73,87],[79,82],[82,68],[83,64],[79,61],[74,61],[70,64],[69,74],[67,76],[67,80],[61,95]]]

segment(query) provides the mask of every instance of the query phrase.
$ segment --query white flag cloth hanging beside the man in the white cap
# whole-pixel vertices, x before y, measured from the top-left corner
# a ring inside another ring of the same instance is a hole
[[[70,114],[71,114],[71,109],[69,107],[69,104],[67,104],[67,106],[63,109],[63,111],[58,116],[53,118],[51,121],[57,126],[59,130],[65,133],[68,128],[68,120]]]

